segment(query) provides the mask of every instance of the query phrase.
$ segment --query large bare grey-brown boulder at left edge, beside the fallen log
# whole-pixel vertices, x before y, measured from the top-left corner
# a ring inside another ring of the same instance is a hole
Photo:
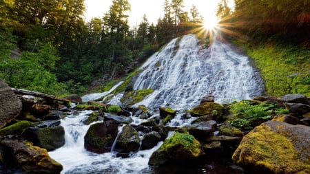
[[[0,79],[0,129],[19,116],[22,105],[14,92]]]

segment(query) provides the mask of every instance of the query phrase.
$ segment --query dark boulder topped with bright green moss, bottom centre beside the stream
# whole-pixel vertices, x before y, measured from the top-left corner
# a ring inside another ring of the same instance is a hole
[[[193,135],[176,132],[152,153],[148,164],[151,166],[186,164],[204,154],[200,142]]]

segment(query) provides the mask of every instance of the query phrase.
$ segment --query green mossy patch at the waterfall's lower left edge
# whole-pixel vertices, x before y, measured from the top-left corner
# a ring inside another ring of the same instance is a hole
[[[125,92],[121,102],[125,102],[126,105],[131,106],[137,102],[141,102],[147,95],[152,94],[154,89],[138,89],[130,92]]]

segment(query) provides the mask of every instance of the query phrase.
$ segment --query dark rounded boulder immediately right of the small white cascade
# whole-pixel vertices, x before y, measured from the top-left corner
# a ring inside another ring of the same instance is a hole
[[[118,133],[118,122],[105,121],[90,126],[84,136],[84,147],[95,153],[110,152]]]

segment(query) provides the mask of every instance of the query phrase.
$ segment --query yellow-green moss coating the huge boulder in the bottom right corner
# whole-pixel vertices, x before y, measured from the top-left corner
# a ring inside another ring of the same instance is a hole
[[[296,173],[310,165],[301,160],[291,140],[261,124],[242,139],[232,159],[236,164],[254,164],[273,173]]]

